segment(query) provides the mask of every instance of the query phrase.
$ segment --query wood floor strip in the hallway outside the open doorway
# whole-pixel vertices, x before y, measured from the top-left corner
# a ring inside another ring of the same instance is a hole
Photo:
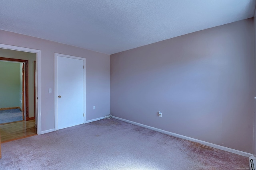
[[[37,135],[35,120],[0,124],[1,143]]]

